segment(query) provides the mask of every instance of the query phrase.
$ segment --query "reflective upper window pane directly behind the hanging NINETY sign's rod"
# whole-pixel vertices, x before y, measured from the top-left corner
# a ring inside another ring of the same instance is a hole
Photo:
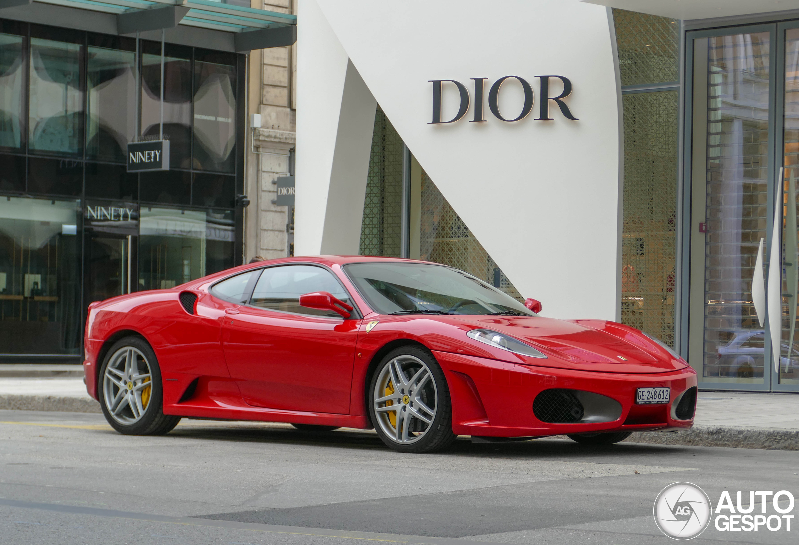
[[[161,44],[141,44],[141,134],[157,138],[161,121]],[[165,47],[164,137],[169,140],[169,165],[191,168],[191,49]]]

